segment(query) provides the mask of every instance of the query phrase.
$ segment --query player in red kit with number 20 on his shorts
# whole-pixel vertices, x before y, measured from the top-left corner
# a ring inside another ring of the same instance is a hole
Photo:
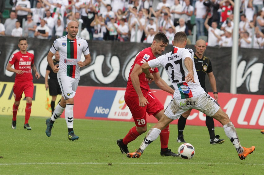
[[[155,59],[155,55],[161,55],[168,43],[169,40],[164,33],[157,33],[152,45],[140,51],[131,66],[125,91],[125,103],[132,113],[136,126],[131,128],[123,139],[117,140],[117,145],[123,154],[124,152],[126,154],[129,153],[127,148],[128,143],[147,131],[146,112],[148,115],[155,116],[158,120],[164,114],[164,106],[150,91],[148,80],[141,70],[141,65],[149,60]],[[150,69],[150,72],[155,77],[155,83],[159,88],[170,94],[174,94],[174,90],[161,79],[157,68]],[[161,131],[160,138],[161,155],[177,157],[178,154],[168,149],[169,125]]]

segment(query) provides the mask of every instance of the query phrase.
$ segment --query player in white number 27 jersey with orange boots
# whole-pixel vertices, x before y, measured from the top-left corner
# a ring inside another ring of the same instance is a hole
[[[200,86],[193,60],[193,51],[184,48],[187,36],[184,32],[174,35],[173,51],[162,55],[156,59],[144,63],[141,68],[146,74],[146,78],[151,83],[154,81],[153,75],[149,72],[150,68],[165,68],[172,85],[174,86],[174,98],[165,109],[161,120],[158,121],[147,133],[139,149],[133,153],[128,153],[127,157],[139,158],[145,148],[161,133],[170,122],[178,119],[181,114],[189,109],[197,109],[208,116],[218,120],[230,141],[235,146],[241,160],[251,154],[255,147],[245,148],[240,145],[236,130],[229,117],[218,106],[218,103],[211,98]]]

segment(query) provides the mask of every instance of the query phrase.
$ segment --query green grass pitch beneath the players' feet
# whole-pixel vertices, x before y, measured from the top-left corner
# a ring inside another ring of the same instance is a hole
[[[117,139],[134,126],[132,122],[74,120],[74,131],[80,137],[68,140],[64,119],[55,121],[51,137],[45,134],[45,117],[31,117],[31,131],[23,129],[24,116],[17,117],[17,128],[11,129],[11,116],[0,116],[0,174],[263,174],[264,134],[258,129],[237,129],[244,147],[255,146],[253,154],[240,160],[222,128],[215,133],[226,141],[210,145],[206,127],[189,126],[184,138],[195,147],[191,160],[162,157],[160,139],[152,142],[139,159],[121,154]],[[150,129],[154,124],[148,124]],[[138,149],[145,133],[128,145]],[[170,125],[169,149],[177,152],[177,125]]]

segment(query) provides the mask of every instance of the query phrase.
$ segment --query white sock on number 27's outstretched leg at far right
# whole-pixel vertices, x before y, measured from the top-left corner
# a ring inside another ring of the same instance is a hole
[[[227,135],[227,137],[230,139],[230,141],[233,143],[236,151],[238,154],[243,153],[244,149],[241,147],[238,135],[235,130],[235,126],[232,124],[232,122],[229,122],[226,125],[223,125],[224,131]]]

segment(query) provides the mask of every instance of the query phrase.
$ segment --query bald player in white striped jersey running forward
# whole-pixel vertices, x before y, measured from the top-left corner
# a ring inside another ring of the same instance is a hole
[[[57,118],[65,109],[65,120],[68,128],[68,139],[77,140],[79,137],[73,131],[73,97],[80,80],[80,68],[91,63],[91,56],[86,40],[77,37],[78,23],[71,21],[66,28],[68,35],[58,38],[53,43],[47,56],[47,61],[54,73],[58,73],[58,81],[62,92],[60,103],[56,106],[51,118],[46,120],[46,135],[51,136],[51,129]],[[52,57],[59,51],[59,67],[53,64]],[[81,61],[81,54],[85,61]]]

